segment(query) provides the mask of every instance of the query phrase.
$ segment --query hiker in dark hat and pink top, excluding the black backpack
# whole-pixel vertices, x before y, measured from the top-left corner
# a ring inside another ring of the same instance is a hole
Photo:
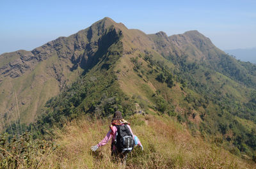
[[[112,137],[111,156],[113,156],[115,160],[120,159],[121,162],[123,163],[123,165],[125,165],[125,161],[126,161],[126,158],[127,158],[127,152],[120,152],[120,151],[118,151],[118,149],[116,147],[116,144],[115,144],[116,133],[118,131],[118,128],[120,126],[125,126],[125,125],[127,126],[127,128],[129,128],[129,131],[131,132],[132,139],[134,140],[135,146],[139,145],[141,147],[141,149],[143,150],[143,146],[142,146],[140,140],[138,139],[138,137],[136,135],[133,135],[132,129],[130,127],[130,124],[123,119],[121,112],[116,111],[114,113],[114,115],[113,115],[113,119],[111,121],[111,125],[109,126],[110,130],[109,130],[108,134],[105,136],[105,138],[103,138],[103,140],[101,142],[99,142],[97,145],[94,145],[94,146],[91,147],[92,151],[94,152],[97,149],[99,149],[99,147],[101,147],[101,146],[105,145],[106,143],[108,143],[108,141]]]

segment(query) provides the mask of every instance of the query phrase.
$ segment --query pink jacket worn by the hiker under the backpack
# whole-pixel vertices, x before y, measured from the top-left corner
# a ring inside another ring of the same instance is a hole
[[[124,124],[122,124],[122,125],[124,125]],[[131,133],[132,133],[131,127],[130,127],[129,125],[127,125],[127,126],[128,126],[128,128],[130,129],[130,131],[131,131]],[[112,131],[112,130],[113,130],[113,131]],[[108,143],[108,141],[111,139],[111,136],[112,136],[112,143],[115,142],[116,131],[117,131],[116,126],[113,126],[112,130],[110,129],[109,132],[107,133],[107,135],[103,138],[103,140],[101,140],[101,142],[99,142],[99,143],[97,144],[98,147],[103,146],[103,145],[105,145],[106,143]],[[132,133],[132,138],[134,139],[133,133]],[[138,140],[138,145],[141,146],[140,140]],[[114,146],[113,146],[113,151],[115,151],[115,149],[116,149],[116,147],[115,147],[115,145],[114,145]]]

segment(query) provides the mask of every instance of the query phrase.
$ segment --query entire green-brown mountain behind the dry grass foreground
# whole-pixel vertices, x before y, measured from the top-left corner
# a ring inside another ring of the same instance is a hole
[[[143,110],[156,119],[168,115],[163,121],[237,156],[254,157],[256,66],[225,54],[198,31],[145,34],[106,17],[31,52],[2,54],[0,61],[2,129],[9,133],[33,129],[40,136],[83,116]]]

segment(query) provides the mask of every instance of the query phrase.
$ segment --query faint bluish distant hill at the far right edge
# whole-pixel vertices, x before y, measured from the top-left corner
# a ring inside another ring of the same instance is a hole
[[[227,54],[234,55],[236,59],[244,62],[256,63],[256,47],[255,48],[237,48],[224,50]]]

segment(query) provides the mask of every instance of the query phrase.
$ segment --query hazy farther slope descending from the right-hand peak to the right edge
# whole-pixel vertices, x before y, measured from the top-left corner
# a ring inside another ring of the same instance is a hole
[[[180,66],[186,64],[185,62],[203,64],[211,70],[255,89],[255,66],[250,63],[244,66],[244,62],[237,62],[236,59],[216,48],[209,38],[198,31],[188,31],[168,38],[163,34],[150,34],[150,36],[159,44],[157,50],[160,50],[166,59]]]

